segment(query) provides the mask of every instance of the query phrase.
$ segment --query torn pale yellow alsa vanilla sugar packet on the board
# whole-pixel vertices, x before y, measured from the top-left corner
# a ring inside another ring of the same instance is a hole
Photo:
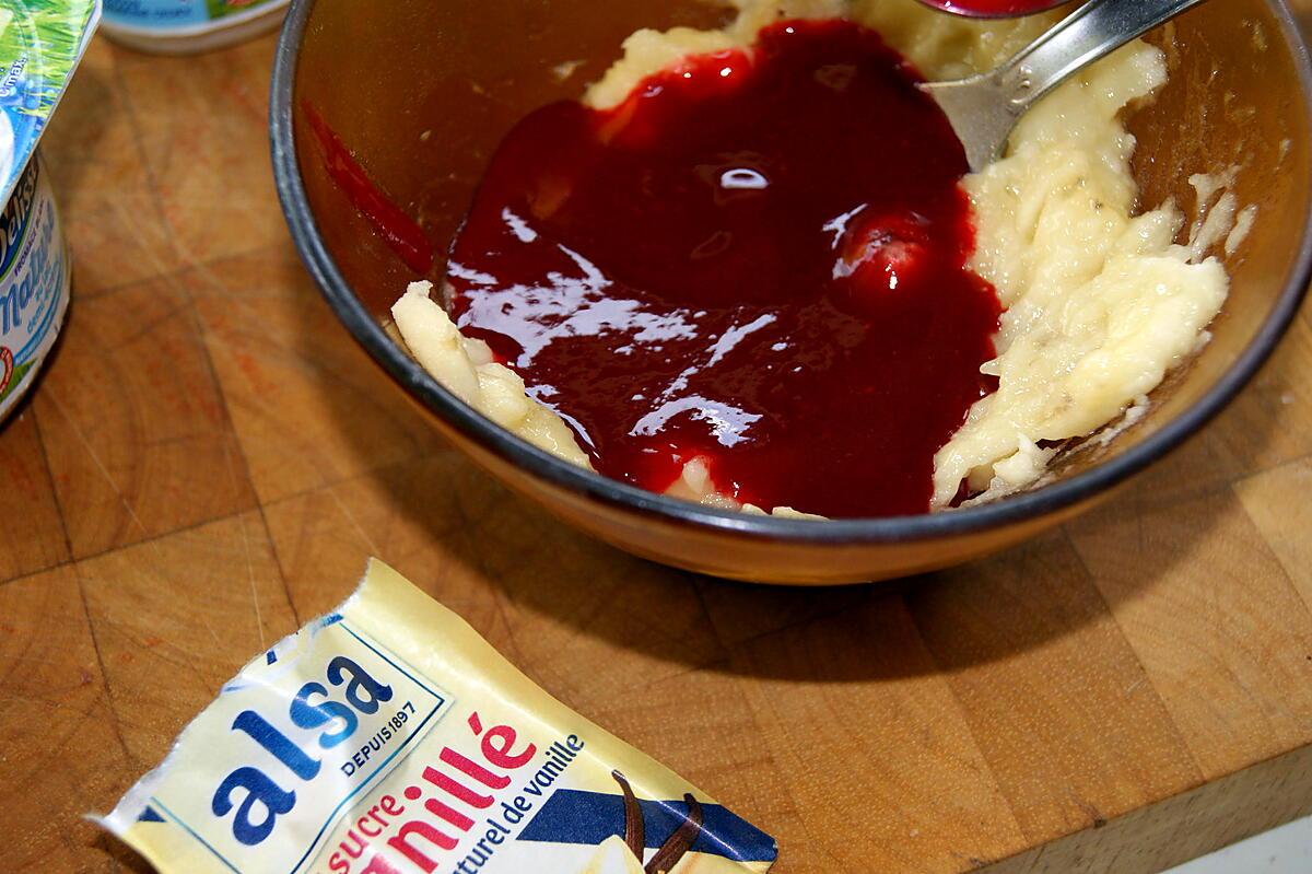
[[[748,874],[777,856],[378,560],[98,822],[165,874]]]

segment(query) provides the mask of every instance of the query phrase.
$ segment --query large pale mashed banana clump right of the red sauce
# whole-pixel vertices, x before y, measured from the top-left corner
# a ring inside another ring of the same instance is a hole
[[[1220,261],[1202,259],[1200,234],[1224,207],[1191,247],[1174,244],[1185,222],[1174,205],[1134,215],[1135,142],[1118,115],[1165,81],[1157,49],[1127,46],[1035,106],[1008,156],[963,181],[975,206],[971,266],[1005,308],[998,357],[984,365],[1000,382],[935,455],[935,509],[964,478],[984,499],[1034,483],[1055,454],[1038,444],[1115,420],[1197,349],[1220,311],[1228,280]]]

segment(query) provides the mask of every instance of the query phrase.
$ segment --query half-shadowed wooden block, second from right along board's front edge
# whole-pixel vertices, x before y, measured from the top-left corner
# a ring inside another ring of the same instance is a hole
[[[1063,534],[943,577],[909,596],[912,614],[1027,840],[1099,827],[1199,782]]]

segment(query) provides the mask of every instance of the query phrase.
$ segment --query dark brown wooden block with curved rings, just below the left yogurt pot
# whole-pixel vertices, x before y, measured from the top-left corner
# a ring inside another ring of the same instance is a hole
[[[255,507],[195,314],[176,278],[77,303],[59,366],[34,400],[73,555]]]

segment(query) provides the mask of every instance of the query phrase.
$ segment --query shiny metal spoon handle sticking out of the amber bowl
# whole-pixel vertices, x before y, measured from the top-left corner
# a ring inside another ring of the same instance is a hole
[[[1019,115],[1086,64],[1203,0],[1090,0],[993,75]]]

